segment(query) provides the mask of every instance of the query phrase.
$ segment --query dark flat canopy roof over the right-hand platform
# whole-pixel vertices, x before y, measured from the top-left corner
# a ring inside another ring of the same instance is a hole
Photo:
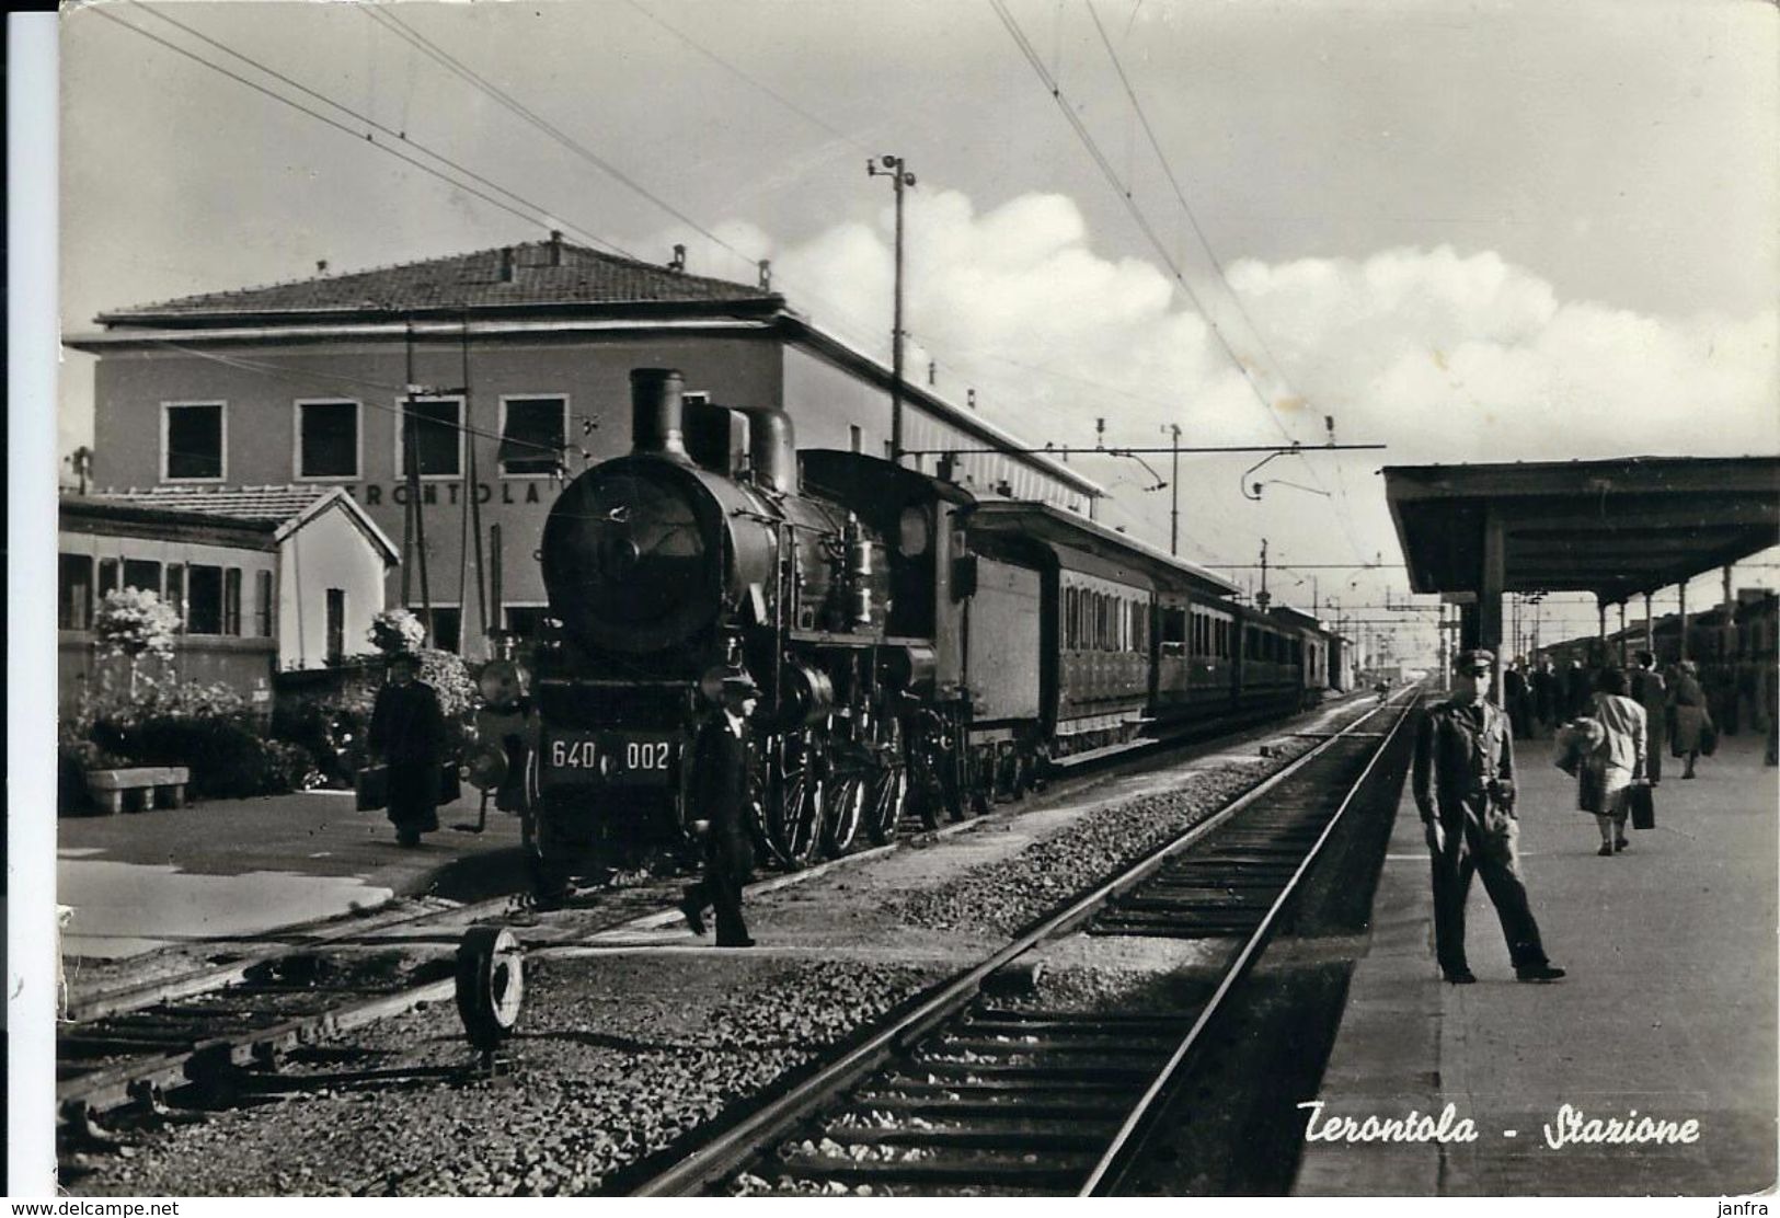
[[[1604,604],[1780,545],[1780,458],[1616,458],[1387,467],[1410,588],[1481,593],[1501,529],[1501,591]]]

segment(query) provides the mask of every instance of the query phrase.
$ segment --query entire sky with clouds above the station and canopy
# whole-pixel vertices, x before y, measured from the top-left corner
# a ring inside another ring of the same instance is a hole
[[[1104,420],[1112,447],[1388,445],[1185,456],[1162,490],[1166,456],[1079,461],[1134,536],[1168,545],[1178,490],[1182,556],[1266,540],[1276,600],[1392,618],[1365,605],[1403,572],[1358,566],[1401,559],[1383,465],[1780,452],[1762,0],[109,0],[64,11],[61,50],[69,333],[561,226],[742,281],[771,258],[792,308],[888,361],[892,192],[865,162],[894,153],[908,367],[938,392],[1034,443]],[[66,452],[89,358],[61,402]]]

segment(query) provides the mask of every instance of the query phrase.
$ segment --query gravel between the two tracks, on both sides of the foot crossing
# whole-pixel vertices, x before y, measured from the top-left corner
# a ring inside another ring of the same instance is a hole
[[[1011,857],[899,892],[870,917],[842,908],[886,946],[906,944],[910,930],[1013,931],[1307,748],[1207,764],[1173,789],[1089,808]],[[279,1077],[308,1076],[303,1090],[126,1134],[126,1156],[66,1157],[62,1184],[71,1195],[595,1193],[956,967],[771,953],[541,958],[527,965],[504,1077],[468,1068],[449,1003],[417,1010],[299,1054]]]

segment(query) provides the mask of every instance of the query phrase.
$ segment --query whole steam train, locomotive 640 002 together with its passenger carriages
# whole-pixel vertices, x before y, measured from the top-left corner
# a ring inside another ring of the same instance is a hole
[[[523,805],[546,869],[689,840],[692,737],[739,670],[783,867],[1328,686],[1310,618],[1045,504],[797,452],[787,415],[684,402],[678,372],[632,372],[632,436],[543,531]]]

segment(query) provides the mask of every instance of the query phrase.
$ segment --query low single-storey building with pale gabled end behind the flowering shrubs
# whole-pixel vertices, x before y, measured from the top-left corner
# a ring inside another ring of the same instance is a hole
[[[160,486],[64,495],[57,538],[57,670],[71,705],[110,668],[93,618],[117,588],[180,618],[171,671],[267,703],[276,673],[372,652],[395,543],[338,486]],[[158,661],[151,661],[155,670]],[[151,675],[160,675],[151,670]]]

